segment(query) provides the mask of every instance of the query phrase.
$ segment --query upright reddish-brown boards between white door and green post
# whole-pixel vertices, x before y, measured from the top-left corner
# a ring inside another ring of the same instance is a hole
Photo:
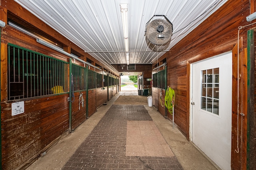
[[[239,55],[238,55],[239,52]],[[233,162],[232,167],[239,169],[246,169],[246,131],[247,131],[247,114],[242,116],[240,113],[247,112],[247,48],[243,48],[242,38],[238,44],[235,45],[232,50],[232,150],[231,160],[238,160]],[[239,57],[239,87],[242,87],[238,94],[238,57]],[[239,98],[238,98],[238,95]],[[239,111],[238,111],[239,110]],[[237,124],[238,121],[238,124]],[[241,148],[240,148],[240,147]]]

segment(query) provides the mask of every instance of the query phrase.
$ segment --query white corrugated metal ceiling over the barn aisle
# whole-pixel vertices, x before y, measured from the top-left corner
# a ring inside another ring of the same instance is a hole
[[[145,64],[156,61],[227,0],[15,1],[84,51],[91,51],[90,55],[110,65],[126,63],[120,4],[128,4],[130,63]],[[165,15],[172,22],[170,43],[156,46],[146,41],[145,26],[154,15]]]

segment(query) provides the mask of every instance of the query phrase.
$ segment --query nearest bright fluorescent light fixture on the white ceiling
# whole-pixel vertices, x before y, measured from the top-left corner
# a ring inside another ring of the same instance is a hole
[[[122,24],[124,31],[124,46],[125,51],[129,51],[129,41],[128,41],[128,8],[127,4],[120,4],[121,7],[121,16],[122,16]]]

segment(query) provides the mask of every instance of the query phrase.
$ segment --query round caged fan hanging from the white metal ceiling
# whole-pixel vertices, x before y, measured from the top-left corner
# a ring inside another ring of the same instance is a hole
[[[165,20],[152,20],[152,18],[159,16],[164,17]],[[167,43],[172,37],[172,23],[164,15],[154,15],[152,18],[146,23],[146,38],[154,45],[162,45]]]

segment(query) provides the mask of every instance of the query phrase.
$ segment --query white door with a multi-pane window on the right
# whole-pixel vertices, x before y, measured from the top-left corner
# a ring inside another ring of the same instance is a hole
[[[192,64],[191,141],[223,170],[231,168],[232,53]]]

